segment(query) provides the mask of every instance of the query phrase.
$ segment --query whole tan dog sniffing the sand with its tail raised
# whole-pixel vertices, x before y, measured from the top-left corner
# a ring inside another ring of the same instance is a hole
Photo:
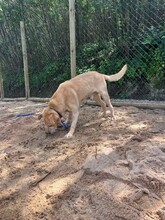
[[[73,136],[76,128],[79,109],[81,102],[93,96],[93,99],[101,105],[103,115],[106,116],[106,104],[111,112],[112,119],[115,119],[113,106],[111,105],[110,98],[107,91],[106,80],[113,82],[118,81],[123,77],[127,70],[127,65],[116,74],[108,76],[95,71],[83,73],[76,76],[58,87],[56,92],[51,97],[48,107],[44,109],[40,118],[43,117],[47,133],[54,133],[60,124],[63,114],[69,112],[69,117],[72,118],[70,131],[66,135],[67,138]],[[105,101],[103,101],[102,99]]]

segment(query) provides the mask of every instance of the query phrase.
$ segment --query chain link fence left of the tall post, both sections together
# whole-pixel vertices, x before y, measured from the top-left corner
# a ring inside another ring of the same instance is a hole
[[[4,0],[0,7],[4,97],[25,96],[20,21],[26,30],[30,95],[50,97],[70,78],[68,2]]]

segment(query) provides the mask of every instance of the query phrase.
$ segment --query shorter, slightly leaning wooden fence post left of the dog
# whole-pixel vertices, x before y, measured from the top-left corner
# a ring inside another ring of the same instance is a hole
[[[28,72],[25,26],[23,21],[20,21],[20,29],[21,29],[21,43],[22,43],[23,65],[24,65],[25,97],[26,99],[28,99],[30,97],[29,72]]]

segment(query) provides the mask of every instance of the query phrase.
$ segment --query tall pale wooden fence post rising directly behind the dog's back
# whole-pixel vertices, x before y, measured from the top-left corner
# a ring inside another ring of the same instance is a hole
[[[76,76],[76,28],[75,28],[75,0],[69,0],[69,28],[70,28],[70,59],[71,77]]]

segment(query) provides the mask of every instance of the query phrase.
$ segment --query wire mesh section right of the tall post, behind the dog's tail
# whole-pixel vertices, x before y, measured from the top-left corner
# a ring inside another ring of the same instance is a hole
[[[165,100],[164,1],[77,1],[80,72],[126,76],[108,84],[113,98]]]

